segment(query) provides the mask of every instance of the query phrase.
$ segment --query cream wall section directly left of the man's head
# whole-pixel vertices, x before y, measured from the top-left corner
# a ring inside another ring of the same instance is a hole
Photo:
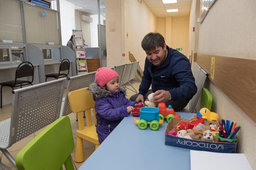
[[[108,16],[107,16],[108,17]],[[126,62],[130,63],[128,54],[130,51],[139,61],[141,69],[144,69],[146,53],[141,48],[141,41],[149,32],[156,31],[157,18],[155,14],[143,2],[138,0],[125,0],[125,45]],[[126,36],[128,32],[128,38]]]

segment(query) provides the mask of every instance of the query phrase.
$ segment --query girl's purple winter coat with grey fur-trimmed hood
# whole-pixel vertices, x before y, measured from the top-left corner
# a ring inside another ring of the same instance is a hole
[[[140,101],[129,101],[125,95],[126,90],[120,88],[117,92],[109,92],[93,82],[88,91],[94,95],[97,124],[96,132],[99,142],[108,137],[121,120],[128,116],[127,107],[135,107]]]

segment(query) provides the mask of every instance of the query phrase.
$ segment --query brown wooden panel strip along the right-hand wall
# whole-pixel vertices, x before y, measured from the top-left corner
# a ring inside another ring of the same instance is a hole
[[[215,57],[214,80],[210,78],[211,57]],[[197,63],[209,73],[209,79],[256,122],[256,60],[197,54]]]

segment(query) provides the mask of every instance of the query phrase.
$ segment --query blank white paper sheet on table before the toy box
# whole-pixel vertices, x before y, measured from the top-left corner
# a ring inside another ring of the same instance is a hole
[[[243,153],[190,151],[191,170],[252,170]]]

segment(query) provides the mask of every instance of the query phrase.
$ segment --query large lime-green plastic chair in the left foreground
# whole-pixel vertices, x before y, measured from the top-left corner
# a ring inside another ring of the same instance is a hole
[[[74,170],[74,140],[70,119],[63,116],[47,126],[16,156],[18,170]]]

